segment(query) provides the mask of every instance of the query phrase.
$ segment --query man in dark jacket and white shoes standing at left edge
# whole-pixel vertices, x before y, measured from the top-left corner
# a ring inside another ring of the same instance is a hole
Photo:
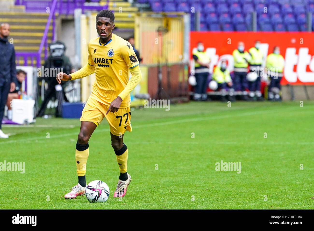
[[[16,65],[13,44],[8,42],[10,25],[3,23],[0,26],[0,138],[8,138],[1,130],[4,106],[7,103],[8,93],[15,89]]]

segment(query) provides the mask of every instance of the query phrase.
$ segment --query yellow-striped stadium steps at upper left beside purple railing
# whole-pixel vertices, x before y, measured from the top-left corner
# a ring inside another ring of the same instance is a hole
[[[11,26],[9,37],[13,38],[15,52],[38,52],[48,17],[48,13],[0,11],[0,22],[6,22]],[[49,44],[52,40],[52,20],[47,39],[47,43]],[[17,65],[21,65],[23,62],[22,60],[17,60]],[[31,64],[30,62],[28,60],[28,65]],[[34,63],[36,63],[36,60]],[[41,53],[41,64],[43,63],[44,52]]]

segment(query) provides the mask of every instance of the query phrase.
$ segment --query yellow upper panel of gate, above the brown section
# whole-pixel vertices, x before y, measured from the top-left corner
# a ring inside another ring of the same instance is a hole
[[[138,47],[144,64],[182,61],[183,14],[170,16],[163,13],[138,13],[135,16],[135,47]]]

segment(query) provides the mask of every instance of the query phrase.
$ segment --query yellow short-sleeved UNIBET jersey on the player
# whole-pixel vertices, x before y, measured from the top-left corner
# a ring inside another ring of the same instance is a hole
[[[88,64],[95,67],[96,75],[90,97],[110,105],[127,85],[129,68],[139,65],[138,58],[131,44],[115,34],[106,44],[99,37],[91,39],[88,52]],[[130,101],[129,94],[120,108],[129,107]]]

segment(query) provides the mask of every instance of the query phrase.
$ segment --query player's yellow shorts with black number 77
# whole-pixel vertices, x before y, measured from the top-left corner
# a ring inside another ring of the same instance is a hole
[[[108,115],[106,115],[108,108],[109,106],[106,104],[89,97],[83,109],[80,121],[90,121],[98,125],[103,118],[106,117],[110,126],[110,132],[113,135],[122,135],[125,131],[131,132],[131,108],[119,108],[117,112],[109,112]]]

